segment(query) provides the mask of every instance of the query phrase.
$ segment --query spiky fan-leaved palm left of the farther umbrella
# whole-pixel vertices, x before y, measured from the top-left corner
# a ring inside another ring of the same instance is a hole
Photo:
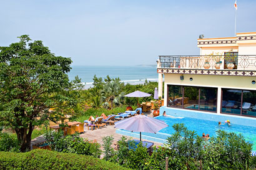
[[[106,108],[114,108],[115,105],[121,105],[124,100],[124,92],[121,90],[119,81],[108,82],[102,89],[103,106]]]

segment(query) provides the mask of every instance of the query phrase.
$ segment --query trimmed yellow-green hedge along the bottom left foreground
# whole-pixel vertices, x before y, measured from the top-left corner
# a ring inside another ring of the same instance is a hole
[[[27,153],[0,152],[0,169],[127,169],[93,156],[34,149]]]

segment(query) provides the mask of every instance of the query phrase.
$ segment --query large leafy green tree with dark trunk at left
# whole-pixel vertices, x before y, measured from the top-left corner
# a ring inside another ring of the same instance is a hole
[[[28,35],[0,47],[0,121],[14,129],[21,151],[30,149],[34,127],[51,113],[49,107],[69,89],[71,59],[56,57],[41,40]]]

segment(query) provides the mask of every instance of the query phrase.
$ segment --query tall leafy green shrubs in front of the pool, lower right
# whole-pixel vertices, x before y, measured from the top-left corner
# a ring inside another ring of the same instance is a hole
[[[217,131],[216,137],[205,141],[184,124],[172,126],[175,133],[164,146],[154,147],[152,155],[138,144],[130,149],[127,138],[122,136],[117,151],[108,159],[132,169],[165,169],[165,157],[169,158],[169,169],[255,169],[256,157],[250,156],[252,144],[242,135]],[[111,142],[111,140],[109,140]],[[108,146],[111,144],[108,142]],[[129,145],[131,148],[132,143]],[[108,148],[111,150],[111,148]]]

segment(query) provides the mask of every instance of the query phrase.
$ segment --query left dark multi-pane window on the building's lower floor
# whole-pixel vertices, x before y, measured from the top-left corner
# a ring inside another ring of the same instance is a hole
[[[168,85],[167,106],[217,111],[217,88]]]

